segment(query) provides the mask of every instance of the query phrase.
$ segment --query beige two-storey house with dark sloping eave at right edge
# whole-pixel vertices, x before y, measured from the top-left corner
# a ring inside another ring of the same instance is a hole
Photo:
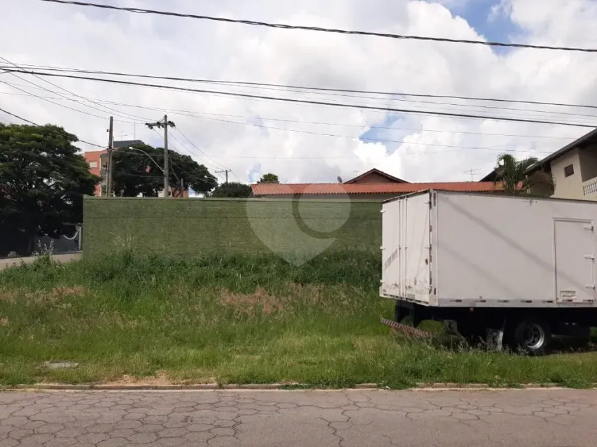
[[[539,169],[552,175],[552,197],[597,200],[597,129],[543,158],[527,173]]]

